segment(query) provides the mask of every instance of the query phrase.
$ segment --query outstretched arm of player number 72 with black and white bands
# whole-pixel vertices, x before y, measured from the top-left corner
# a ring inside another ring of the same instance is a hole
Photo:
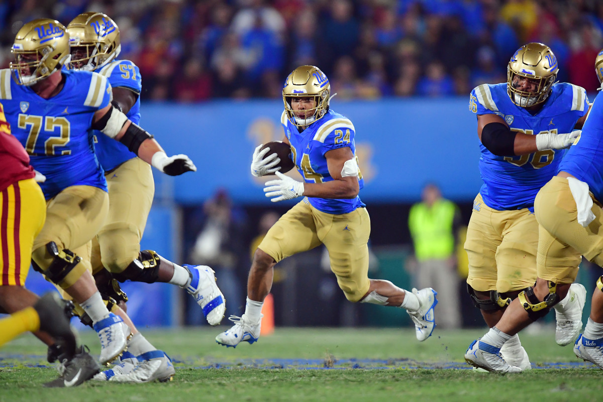
[[[94,113],[92,128],[118,140],[138,157],[170,176],[196,171],[186,155],[168,157],[159,143],[146,130],[131,122],[121,111],[107,105]]]

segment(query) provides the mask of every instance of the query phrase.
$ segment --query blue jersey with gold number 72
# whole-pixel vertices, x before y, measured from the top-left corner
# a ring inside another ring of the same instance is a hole
[[[0,98],[12,133],[30,154],[30,163],[46,176],[40,183],[46,199],[69,186],[107,190],[94,152],[90,124],[95,111],[112,99],[105,77],[93,72],[62,71],[65,84],[50,99],[16,84],[8,69],[0,70]]]

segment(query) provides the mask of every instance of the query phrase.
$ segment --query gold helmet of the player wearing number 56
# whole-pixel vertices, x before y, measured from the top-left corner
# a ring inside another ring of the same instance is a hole
[[[532,42],[517,49],[507,67],[507,92],[511,100],[521,107],[546,101],[559,71],[557,57],[549,46]],[[537,84],[535,93],[514,87],[516,77],[529,78]]]

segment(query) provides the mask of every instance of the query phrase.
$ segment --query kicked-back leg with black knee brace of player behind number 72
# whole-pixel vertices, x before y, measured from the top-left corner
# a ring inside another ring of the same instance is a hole
[[[93,249],[95,272],[103,265],[120,282],[176,284],[197,300],[209,324],[218,325],[226,304],[211,268],[180,266],[153,250],[140,251],[140,239],[153,203],[151,166],[139,158],[130,159],[107,174],[107,183],[109,215],[97,236],[98,249]]]

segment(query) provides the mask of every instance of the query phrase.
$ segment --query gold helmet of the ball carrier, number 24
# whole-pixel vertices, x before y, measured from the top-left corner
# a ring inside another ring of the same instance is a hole
[[[305,127],[322,118],[329,111],[330,93],[329,78],[318,67],[300,66],[296,68],[289,74],[285,80],[285,86],[283,86],[283,102],[287,118],[291,124],[297,127]],[[291,108],[291,99],[306,96],[315,97],[316,106],[314,109],[306,110],[314,110],[314,113],[306,118],[298,118]]]

